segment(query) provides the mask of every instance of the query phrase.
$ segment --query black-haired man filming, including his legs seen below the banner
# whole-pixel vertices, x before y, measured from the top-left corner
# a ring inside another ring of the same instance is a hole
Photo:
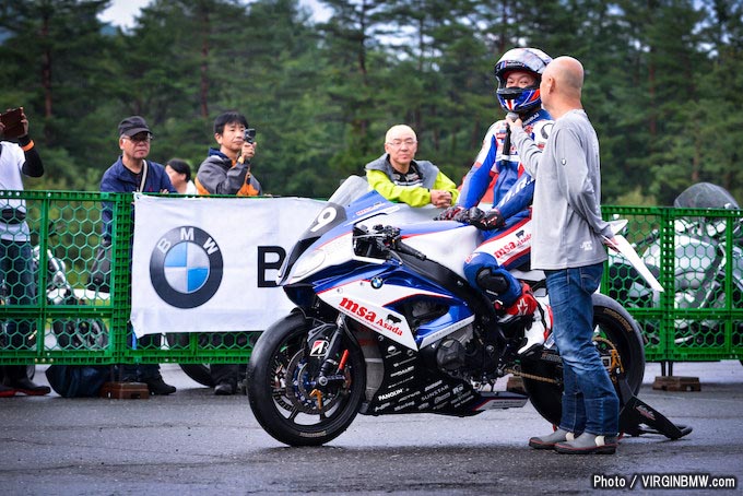
[[[260,182],[250,172],[250,160],[256,154],[256,130],[237,111],[226,111],[214,119],[214,140],[219,149],[210,147],[209,156],[199,166],[196,187],[199,194],[234,194],[257,197],[262,194]],[[228,334],[213,334],[212,344],[220,345]],[[240,375],[238,364],[211,364],[214,394],[237,392]]]

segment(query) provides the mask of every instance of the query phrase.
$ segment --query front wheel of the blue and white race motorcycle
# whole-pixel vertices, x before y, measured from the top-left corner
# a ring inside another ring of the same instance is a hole
[[[335,380],[317,383],[318,359],[308,333],[325,322],[292,314],[261,334],[248,362],[248,400],[258,423],[290,446],[319,446],[340,436],[358,413],[365,389],[364,358],[342,338]]]

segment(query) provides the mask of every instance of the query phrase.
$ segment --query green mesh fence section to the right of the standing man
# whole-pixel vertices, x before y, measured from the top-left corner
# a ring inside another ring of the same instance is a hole
[[[743,357],[743,212],[605,206],[628,220],[625,236],[663,288],[651,291],[610,256],[602,293],[635,317],[648,361]]]

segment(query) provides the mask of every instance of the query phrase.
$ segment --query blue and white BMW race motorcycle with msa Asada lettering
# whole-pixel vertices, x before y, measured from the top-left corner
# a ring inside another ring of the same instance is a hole
[[[532,318],[500,326],[464,279],[479,231],[453,221],[396,224],[403,206],[349,178],[284,261],[280,284],[296,308],[260,335],[247,370],[262,428],[290,446],[317,446],[359,413],[470,416],[529,400],[558,424],[562,361],[549,329],[541,349],[519,355]],[[549,298],[543,272],[514,273]],[[610,376],[633,395],[645,373],[639,328],[601,294],[593,319]],[[508,375],[523,379],[524,394],[495,389]]]

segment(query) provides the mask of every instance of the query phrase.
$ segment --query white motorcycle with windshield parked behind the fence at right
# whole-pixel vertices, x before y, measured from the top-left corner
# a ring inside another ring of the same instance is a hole
[[[677,209],[740,209],[735,199],[724,189],[709,182],[699,182],[684,190],[673,202]],[[684,217],[674,221],[674,307],[723,308],[726,298],[732,306],[743,305],[743,219],[733,220],[731,248],[732,260],[727,258],[728,240],[724,217]],[[660,274],[660,232],[635,244],[645,264],[656,275]],[[731,264],[732,294],[726,294],[726,270]],[[660,295],[639,276],[626,258],[610,253],[609,295],[617,302],[638,308],[658,308]],[[674,322],[675,345],[719,345],[723,330],[719,320],[677,319]],[[650,344],[659,344],[657,324],[644,322],[645,336]],[[739,323],[743,334],[743,322]],[[740,341],[739,341],[740,344]]]

